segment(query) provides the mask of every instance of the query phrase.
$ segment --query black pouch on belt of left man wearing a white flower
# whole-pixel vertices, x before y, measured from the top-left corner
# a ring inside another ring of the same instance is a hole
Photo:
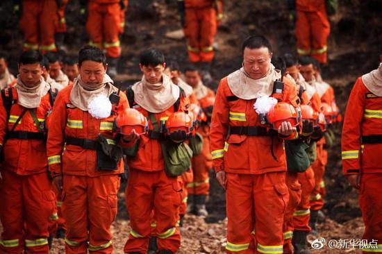
[[[118,162],[122,159],[122,148],[115,144],[113,139],[98,135],[101,149],[97,149],[97,169],[117,170]]]

